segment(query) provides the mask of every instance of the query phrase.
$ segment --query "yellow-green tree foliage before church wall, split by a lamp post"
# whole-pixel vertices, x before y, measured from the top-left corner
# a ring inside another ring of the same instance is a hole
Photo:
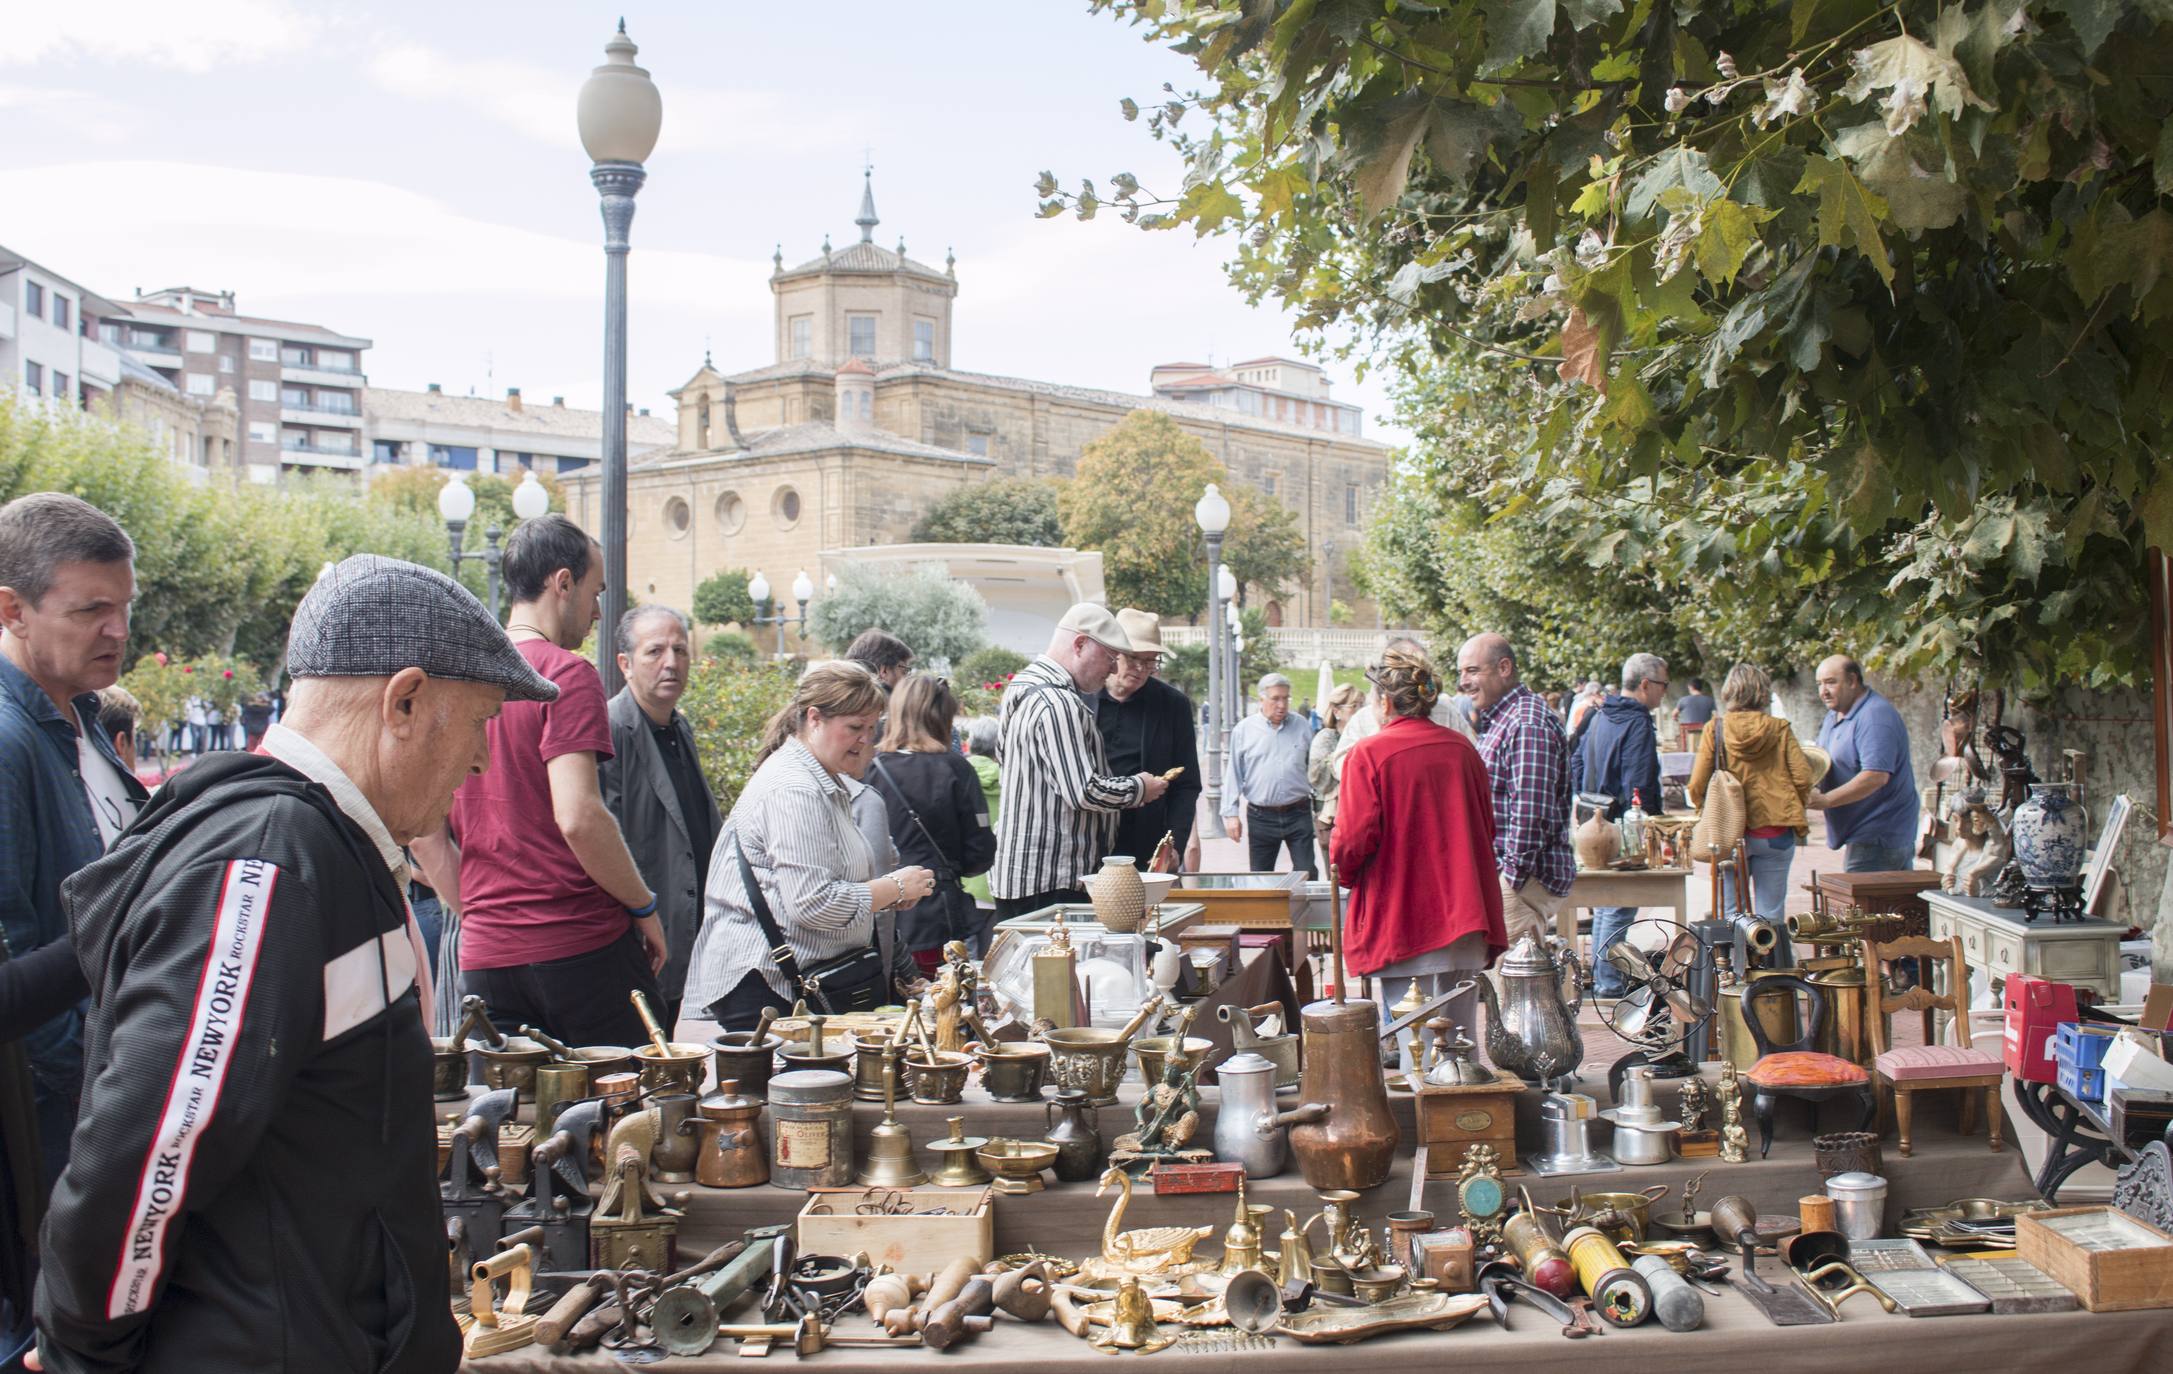
[[[1206,607],[1206,541],[1193,504],[1208,483],[1230,498],[1223,559],[1232,576],[1284,596],[1310,572],[1297,517],[1267,494],[1232,483],[1208,446],[1163,411],[1132,411],[1080,450],[1056,496],[1065,544],[1102,550],[1113,607],[1197,617]]]

